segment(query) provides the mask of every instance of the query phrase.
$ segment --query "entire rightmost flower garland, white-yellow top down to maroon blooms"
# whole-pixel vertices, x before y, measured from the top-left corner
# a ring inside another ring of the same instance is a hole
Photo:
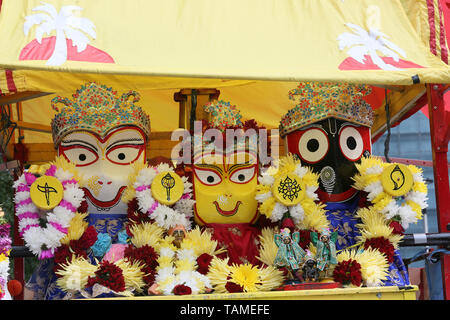
[[[410,223],[422,218],[427,207],[427,187],[422,171],[409,165],[413,183],[403,196],[388,193],[382,183],[382,174],[395,163],[385,163],[377,157],[365,157],[357,164],[354,187],[367,193],[368,206],[359,208],[356,216],[361,235],[357,249],[345,249],[338,256],[333,271],[335,281],[350,286],[379,286],[387,279],[389,264],[403,239],[403,231]],[[400,203],[400,204],[399,204]]]

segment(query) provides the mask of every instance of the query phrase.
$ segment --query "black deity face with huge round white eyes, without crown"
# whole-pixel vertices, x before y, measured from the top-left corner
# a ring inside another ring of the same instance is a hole
[[[288,152],[319,174],[319,190],[329,200],[341,201],[354,194],[356,163],[372,150],[370,128],[327,118],[286,136]]]

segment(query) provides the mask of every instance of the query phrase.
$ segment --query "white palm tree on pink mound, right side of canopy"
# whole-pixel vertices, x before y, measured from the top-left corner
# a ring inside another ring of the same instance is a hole
[[[347,50],[348,55],[363,65],[368,65],[368,60],[373,63],[374,69],[401,70],[403,68],[422,68],[417,64],[404,61],[406,52],[395,43],[388,40],[388,36],[377,29],[370,28],[369,31],[353,23],[345,24],[354,33],[345,32],[338,36],[339,49]],[[381,53],[383,56],[379,55]],[[394,65],[395,64],[395,65]],[[396,66],[397,65],[397,66]],[[349,69],[343,67],[339,69]],[[370,69],[370,68],[366,68]]]

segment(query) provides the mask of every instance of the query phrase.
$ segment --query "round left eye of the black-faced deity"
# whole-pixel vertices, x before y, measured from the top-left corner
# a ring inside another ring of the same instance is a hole
[[[328,148],[328,136],[319,128],[305,131],[298,141],[300,158],[309,163],[322,160],[328,153]]]

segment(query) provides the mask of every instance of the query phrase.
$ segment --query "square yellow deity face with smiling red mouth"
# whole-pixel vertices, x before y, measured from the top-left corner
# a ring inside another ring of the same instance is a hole
[[[254,223],[258,179],[256,156],[248,152],[209,155],[194,164],[195,221]]]

